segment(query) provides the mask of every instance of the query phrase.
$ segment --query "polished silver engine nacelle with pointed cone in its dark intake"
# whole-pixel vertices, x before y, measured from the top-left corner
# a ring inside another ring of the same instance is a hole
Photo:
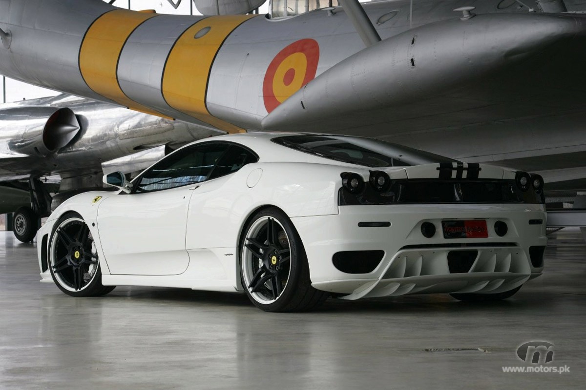
[[[57,153],[70,144],[81,130],[71,109],[38,106],[0,111],[0,128],[16,134],[8,142],[10,150],[42,157]]]

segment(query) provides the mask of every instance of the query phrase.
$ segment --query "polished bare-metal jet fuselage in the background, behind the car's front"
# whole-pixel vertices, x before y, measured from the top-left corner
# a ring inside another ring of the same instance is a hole
[[[43,136],[47,118],[32,113],[63,108],[79,122],[66,145],[47,153],[22,147]],[[6,103],[0,105],[0,182],[59,174],[65,179],[96,175],[94,182],[100,183],[104,162],[215,134],[219,132],[76,96]]]

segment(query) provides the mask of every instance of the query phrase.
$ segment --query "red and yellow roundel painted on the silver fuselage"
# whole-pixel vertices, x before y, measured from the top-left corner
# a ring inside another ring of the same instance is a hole
[[[318,61],[319,45],[313,39],[298,40],[281,50],[264,75],[263,96],[267,112],[313,80]]]

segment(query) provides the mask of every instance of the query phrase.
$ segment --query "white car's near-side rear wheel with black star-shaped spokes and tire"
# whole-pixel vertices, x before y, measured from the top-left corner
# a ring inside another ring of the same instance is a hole
[[[301,312],[316,308],[328,293],[311,287],[301,238],[277,208],[256,213],[244,227],[240,271],[244,290],[265,312]]]

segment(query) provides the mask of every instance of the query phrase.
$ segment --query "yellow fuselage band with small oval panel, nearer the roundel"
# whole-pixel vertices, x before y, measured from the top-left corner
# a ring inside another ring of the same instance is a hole
[[[210,114],[206,92],[210,70],[224,40],[236,27],[254,16],[212,16],[195,23],[179,37],[163,71],[163,97],[169,106],[226,132],[244,132]],[[209,31],[196,38],[196,34],[206,27]]]

